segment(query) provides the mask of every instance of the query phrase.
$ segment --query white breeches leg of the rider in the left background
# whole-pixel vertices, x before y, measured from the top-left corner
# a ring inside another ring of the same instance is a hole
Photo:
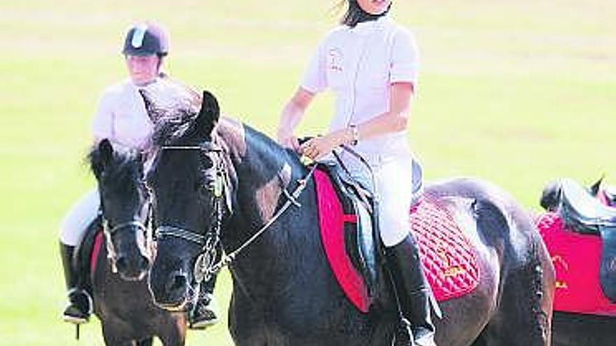
[[[97,189],[82,196],[73,206],[60,226],[60,241],[65,245],[76,246],[90,223],[96,219],[100,207]]]

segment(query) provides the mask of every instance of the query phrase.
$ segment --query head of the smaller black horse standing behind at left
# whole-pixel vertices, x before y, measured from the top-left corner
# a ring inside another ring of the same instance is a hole
[[[107,254],[125,280],[145,277],[151,258],[146,244],[148,192],[141,153],[111,145],[104,139],[90,152],[104,220]]]

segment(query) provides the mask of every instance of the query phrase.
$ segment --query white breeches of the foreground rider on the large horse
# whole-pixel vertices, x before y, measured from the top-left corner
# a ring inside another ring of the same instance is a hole
[[[376,187],[373,191],[379,196],[379,229],[381,240],[386,247],[398,245],[409,235],[409,209],[413,199],[413,158],[411,154],[395,156],[365,157],[374,173]],[[370,183],[370,173],[356,159],[344,154],[343,161],[353,178]]]

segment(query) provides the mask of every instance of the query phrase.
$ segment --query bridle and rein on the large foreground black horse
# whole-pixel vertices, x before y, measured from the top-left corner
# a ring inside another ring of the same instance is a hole
[[[265,231],[267,231],[269,227],[272,226],[272,224],[274,224],[274,222],[276,222],[276,220],[279,219],[290,206],[293,205],[300,207],[300,203],[297,203],[297,197],[299,197],[307,187],[307,182],[314,174],[317,166],[316,164],[312,166],[304,178],[297,180],[297,187],[295,187],[293,192],[289,193],[283,188],[283,195],[286,196],[286,202],[283,206],[281,206],[281,208],[279,208],[279,210],[276,210],[272,218],[269,219],[258,231],[256,231],[251,238],[248,238],[248,240],[237,247],[237,249],[233,250],[229,254],[225,254],[223,251],[221,259],[214,263],[216,259],[216,248],[218,247],[218,243],[221,243],[221,229],[224,213],[223,204],[226,202],[230,207],[228,175],[225,168],[225,160],[222,157],[224,150],[221,147],[218,147],[215,143],[207,143],[204,145],[165,145],[162,146],[162,150],[199,150],[200,152],[206,153],[214,152],[215,154],[218,154],[220,158],[219,164],[216,165],[216,181],[214,182],[214,209],[216,210],[216,219],[214,219],[214,223],[211,228],[213,231],[208,232],[208,236],[204,236],[195,231],[188,231],[179,227],[165,225],[158,226],[155,231],[155,236],[157,238],[171,236],[188,240],[202,247],[202,252],[197,257],[197,260],[195,261],[195,268],[193,269],[193,276],[195,277],[197,284],[210,280],[212,275],[218,273],[218,271],[221,271],[222,268],[235,261],[237,255],[245,250],[246,247],[254,243],[260,236],[262,236],[262,234],[265,233]],[[222,201],[223,198],[226,198],[227,201]]]

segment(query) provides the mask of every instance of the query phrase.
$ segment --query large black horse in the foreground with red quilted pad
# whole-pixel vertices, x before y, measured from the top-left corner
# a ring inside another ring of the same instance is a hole
[[[161,111],[147,98],[146,107]],[[192,123],[167,124],[155,136],[147,177],[158,237],[155,302],[186,305],[219,239],[226,254],[237,254],[230,264],[237,345],[391,345],[398,323],[391,284],[379,276],[384,289],[367,313],[344,296],[321,245],[308,169],[267,136],[218,118],[216,99],[204,92]],[[280,214],[296,182],[306,188]],[[426,194],[460,215],[482,273],[475,291],[442,303],[437,343],[548,345],[554,268],[526,211],[477,180],[440,182]]]

